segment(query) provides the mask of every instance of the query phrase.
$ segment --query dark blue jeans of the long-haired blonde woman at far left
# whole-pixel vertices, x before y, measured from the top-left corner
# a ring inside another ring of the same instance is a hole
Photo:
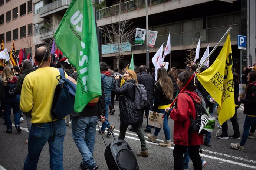
[[[11,108],[13,108],[14,123],[15,126],[20,126],[20,96],[15,95],[11,98],[6,98],[6,109],[4,110],[4,120],[7,130],[12,129],[12,120],[11,120]]]

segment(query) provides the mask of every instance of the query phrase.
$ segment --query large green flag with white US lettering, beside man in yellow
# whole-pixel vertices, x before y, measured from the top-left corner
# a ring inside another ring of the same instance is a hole
[[[101,74],[95,18],[91,0],[72,0],[55,34],[55,43],[78,72],[75,106],[82,112],[101,96]]]

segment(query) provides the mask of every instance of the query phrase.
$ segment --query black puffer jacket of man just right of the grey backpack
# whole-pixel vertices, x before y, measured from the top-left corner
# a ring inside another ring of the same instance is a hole
[[[141,74],[138,76],[138,83],[141,83],[145,86],[148,93],[148,101],[150,103],[150,107],[152,108],[154,100],[154,78],[149,75],[147,71],[142,71]],[[147,106],[149,106],[148,103]]]

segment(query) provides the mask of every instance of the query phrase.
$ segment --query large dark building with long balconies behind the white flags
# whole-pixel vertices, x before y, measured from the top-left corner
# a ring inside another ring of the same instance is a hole
[[[165,57],[170,66],[184,68],[185,58],[190,54],[190,48],[196,49],[197,42],[201,37],[200,56],[204,54],[206,47],[210,44],[210,51],[226,33],[229,27],[232,44],[233,67],[240,71],[241,68],[252,65],[255,62],[255,0],[147,0],[148,1],[148,28],[158,31],[154,48],[149,49],[149,60],[163,42],[167,42],[169,31],[171,31],[171,55]],[[108,1],[107,1],[108,2]],[[113,1],[112,1],[113,2]],[[97,11],[97,27],[110,24],[109,18],[116,18],[118,14],[117,1],[110,6]],[[109,3],[107,3],[109,4]],[[122,3],[123,12],[127,20],[137,28],[146,29],[145,0],[129,0]],[[237,47],[237,36],[247,36],[246,50]],[[134,35],[135,38],[135,35]],[[101,34],[99,46],[101,47],[102,61],[116,67],[115,54],[102,52],[102,48],[108,45],[106,36]],[[225,41],[225,40],[224,40]],[[219,54],[224,41],[210,57],[212,64]],[[146,64],[146,45],[134,45],[134,40],[129,42],[131,48],[124,52],[119,68],[124,68],[134,54],[134,64],[138,67]],[[194,44],[194,45],[193,45]],[[164,48],[163,48],[164,50]],[[150,68],[154,67],[150,63]]]

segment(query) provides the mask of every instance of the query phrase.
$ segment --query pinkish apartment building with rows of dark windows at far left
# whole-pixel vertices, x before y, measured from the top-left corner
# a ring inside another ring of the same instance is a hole
[[[25,48],[25,56],[33,47],[32,0],[0,0],[0,40],[10,52],[12,41],[18,54]]]

